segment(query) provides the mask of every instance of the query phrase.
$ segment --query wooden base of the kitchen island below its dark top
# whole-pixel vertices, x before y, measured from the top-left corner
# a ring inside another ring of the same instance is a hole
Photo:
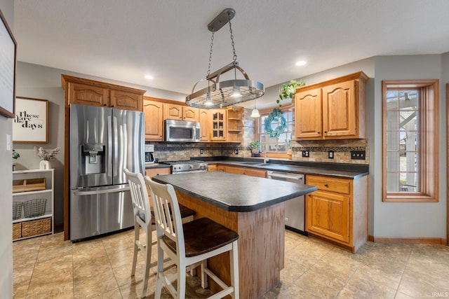
[[[177,200],[196,211],[195,218],[208,217],[239,234],[240,298],[258,298],[280,281],[284,262],[284,203],[256,211],[225,211],[176,191]],[[208,266],[229,284],[229,253],[208,260]],[[220,286],[210,280],[215,293]]]

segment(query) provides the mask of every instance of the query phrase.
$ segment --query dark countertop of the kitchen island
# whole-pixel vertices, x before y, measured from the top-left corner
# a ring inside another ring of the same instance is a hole
[[[316,186],[227,172],[196,172],[153,176],[175,190],[226,211],[255,211],[317,190]]]

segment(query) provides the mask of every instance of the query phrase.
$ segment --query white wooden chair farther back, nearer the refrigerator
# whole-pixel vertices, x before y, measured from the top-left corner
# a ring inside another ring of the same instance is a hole
[[[149,204],[149,197],[147,188],[145,186],[144,177],[141,173],[130,172],[128,169],[123,169],[128,179],[131,198],[133,200],[134,213],[134,254],[133,267],[131,276],[135,274],[135,267],[138,260],[138,251],[142,251],[145,255],[145,277],[142,297],[145,297],[148,287],[149,268],[152,267],[152,245],[156,244],[156,240],[152,241],[152,231],[156,230],[154,215]],[[182,206],[181,218],[182,221],[192,221],[195,211]],[[145,242],[140,242],[140,227],[145,231]]]

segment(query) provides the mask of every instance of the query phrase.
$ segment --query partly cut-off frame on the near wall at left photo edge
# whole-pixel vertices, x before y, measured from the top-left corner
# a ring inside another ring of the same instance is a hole
[[[17,43],[1,11],[0,19],[0,114],[7,118],[14,118]]]

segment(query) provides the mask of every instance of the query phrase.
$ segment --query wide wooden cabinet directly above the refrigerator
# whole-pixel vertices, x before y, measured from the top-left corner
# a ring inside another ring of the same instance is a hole
[[[61,75],[65,103],[143,111],[145,90]]]

